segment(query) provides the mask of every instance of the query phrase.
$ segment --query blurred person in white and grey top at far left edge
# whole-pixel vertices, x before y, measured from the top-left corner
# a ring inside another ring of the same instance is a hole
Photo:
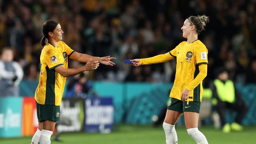
[[[4,48],[0,60],[0,97],[19,96],[19,83],[23,70],[19,63],[13,61],[13,50]]]

